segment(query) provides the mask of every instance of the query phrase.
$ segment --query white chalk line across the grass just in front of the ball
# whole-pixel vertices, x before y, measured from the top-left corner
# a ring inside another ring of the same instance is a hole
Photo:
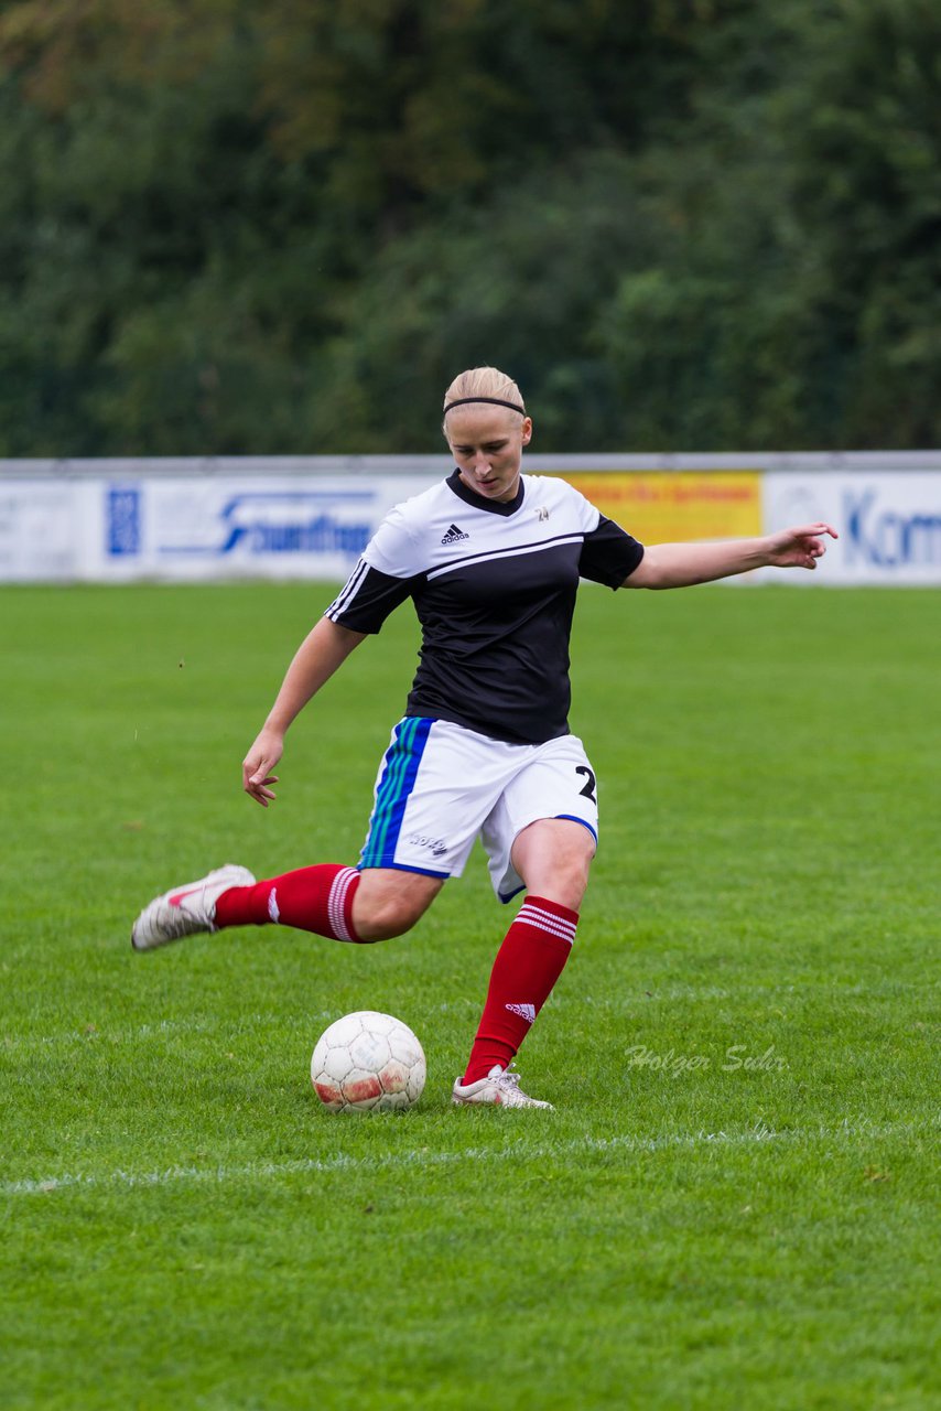
[[[341,1119],[347,1120],[347,1119]],[[354,1118],[353,1120],[361,1120]],[[368,1120],[368,1118],[365,1119]],[[501,1113],[501,1120],[506,1118]],[[775,1132],[763,1123],[746,1127],[739,1132],[677,1132],[659,1137],[615,1136],[615,1137],[576,1137],[571,1141],[543,1143],[529,1146],[516,1141],[502,1147],[466,1147],[460,1151],[430,1151],[426,1147],[409,1151],[388,1151],[381,1156],[353,1157],[337,1153],[332,1157],[305,1157],[293,1161],[247,1161],[241,1165],[168,1165],[158,1171],[106,1171],[100,1175],[85,1175],[80,1171],[47,1177],[45,1180],[4,1181],[0,1184],[0,1195],[6,1198],[17,1195],[48,1195],[55,1191],[68,1189],[135,1189],[141,1187],[162,1185],[226,1185],[233,1181],[262,1181],[284,1175],[312,1175],[330,1174],[334,1171],[389,1171],[408,1167],[432,1168],[437,1165],[461,1165],[474,1161],[543,1161],[560,1156],[584,1153],[624,1151],[625,1154],[642,1151],[664,1151],[676,1147],[696,1149],[701,1146],[714,1147],[742,1147],[772,1141],[801,1143],[801,1141],[848,1141],[852,1139],[879,1139],[924,1132],[924,1123],[894,1122],[883,1126],[872,1126],[866,1122],[841,1122],[835,1127],[817,1129],[786,1129]]]

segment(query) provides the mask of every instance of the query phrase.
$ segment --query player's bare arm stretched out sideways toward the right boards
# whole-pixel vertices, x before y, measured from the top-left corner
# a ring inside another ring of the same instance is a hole
[[[815,569],[827,552],[824,535],[837,539],[825,523],[801,525],[758,539],[722,539],[717,543],[653,543],[625,580],[625,588],[687,588],[694,583],[731,579],[749,569]]]

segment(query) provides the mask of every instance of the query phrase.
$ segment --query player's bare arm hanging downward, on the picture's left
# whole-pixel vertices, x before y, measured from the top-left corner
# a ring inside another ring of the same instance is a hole
[[[320,618],[298,648],[268,718],[241,766],[243,787],[262,809],[275,797],[271,786],[278,783],[278,776],[271,770],[281,759],[288,727],[364,636],[365,632],[351,632],[330,618]]]

